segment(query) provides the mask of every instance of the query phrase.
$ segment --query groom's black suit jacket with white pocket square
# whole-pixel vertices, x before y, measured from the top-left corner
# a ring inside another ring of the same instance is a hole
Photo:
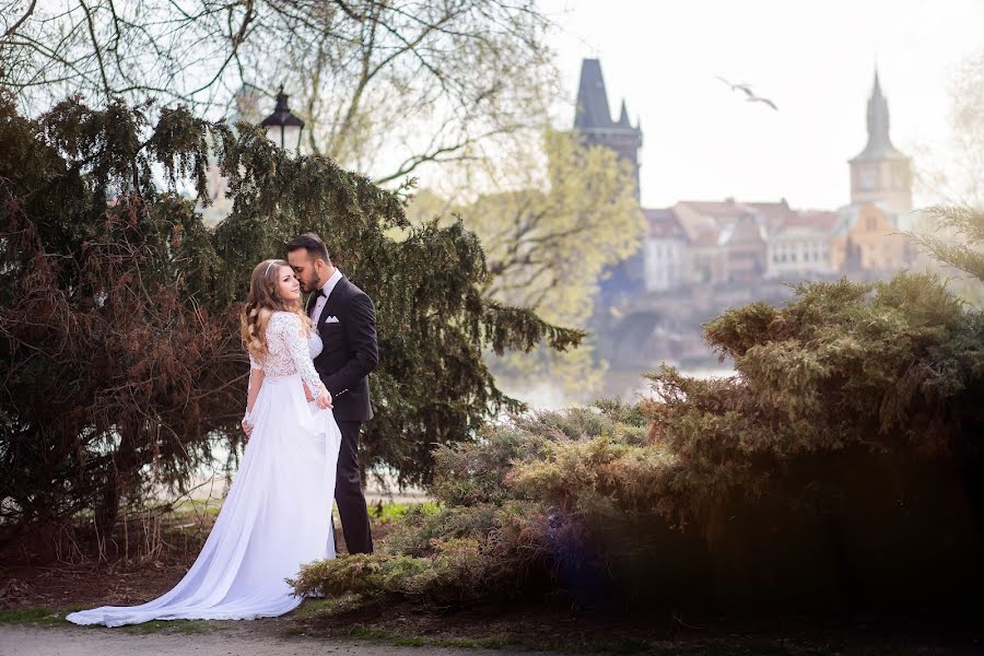
[[[317,294],[307,301],[314,307]],[[338,321],[328,321],[335,317]],[[331,393],[336,421],[366,421],[373,418],[368,394],[371,371],[379,362],[376,345],[376,312],[373,302],[342,276],[325,302],[317,321],[324,348],[315,358],[315,370]]]

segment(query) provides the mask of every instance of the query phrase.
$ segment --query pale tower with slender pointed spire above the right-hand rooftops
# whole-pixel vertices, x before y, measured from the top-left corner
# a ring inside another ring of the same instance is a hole
[[[868,144],[851,160],[851,203],[881,202],[894,212],[912,210],[912,167],[889,138],[888,101],[878,71],[868,99]]]

